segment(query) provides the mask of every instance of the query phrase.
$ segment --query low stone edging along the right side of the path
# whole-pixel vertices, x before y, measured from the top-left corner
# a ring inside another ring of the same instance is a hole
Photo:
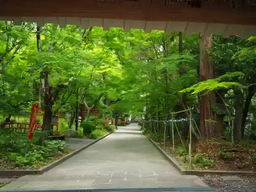
[[[153,141],[151,138],[147,137],[146,134],[141,131],[145,137],[151,141],[151,143],[161,152],[161,154],[172,164],[177,168],[177,170],[182,175],[256,175],[256,172],[230,172],[230,171],[224,171],[224,170],[186,170],[184,167],[182,167],[178,161],[174,157],[170,157],[159,145],[157,142]]]

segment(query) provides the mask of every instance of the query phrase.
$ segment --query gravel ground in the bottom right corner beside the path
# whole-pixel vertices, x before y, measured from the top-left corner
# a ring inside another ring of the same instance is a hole
[[[222,192],[255,192],[256,177],[239,176],[239,181],[223,181],[221,176],[207,175],[201,179],[210,187]]]

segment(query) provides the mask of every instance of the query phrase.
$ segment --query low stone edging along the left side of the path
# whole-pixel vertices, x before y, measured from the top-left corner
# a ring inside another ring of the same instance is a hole
[[[52,163],[50,163],[46,166],[43,166],[39,169],[35,169],[35,170],[0,170],[0,176],[4,176],[4,177],[13,177],[13,176],[22,177],[22,176],[25,176],[25,175],[41,175],[41,174],[44,174],[45,172],[48,172],[48,170],[50,170],[51,168],[53,168],[56,165],[62,163],[63,161],[68,160],[69,158],[71,158],[74,155],[80,153],[81,151],[85,150],[86,148],[93,145],[94,143],[97,143],[98,141],[105,138],[106,136],[109,136],[110,134],[114,133],[115,131],[116,130],[106,134],[103,137],[100,137],[99,139],[96,139],[95,141],[93,141],[93,142],[91,142],[87,145],[84,145],[83,147],[79,148],[78,150],[75,150],[75,151],[69,153],[68,155],[63,156],[60,159],[57,159],[57,160],[53,161]]]

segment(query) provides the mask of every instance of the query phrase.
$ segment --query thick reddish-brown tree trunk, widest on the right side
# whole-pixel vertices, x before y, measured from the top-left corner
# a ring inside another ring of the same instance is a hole
[[[211,38],[200,34],[200,80],[215,78],[215,70],[205,48],[211,45]],[[215,116],[211,106],[215,105],[215,92],[200,95],[200,130],[203,138],[216,138]]]

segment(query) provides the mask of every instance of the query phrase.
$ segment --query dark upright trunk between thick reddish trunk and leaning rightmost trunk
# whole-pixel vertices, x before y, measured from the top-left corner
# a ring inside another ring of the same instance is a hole
[[[241,90],[234,91],[234,109],[236,110],[234,114],[234,129],[233,129],[233,137],[236,141],[241,141],[242,132],[242,113],[243,113],[243,92]]]

